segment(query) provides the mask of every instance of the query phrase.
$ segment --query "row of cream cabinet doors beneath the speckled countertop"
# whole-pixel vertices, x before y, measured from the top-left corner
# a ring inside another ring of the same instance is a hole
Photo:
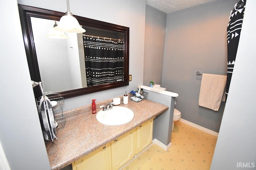
[[[153,118],[72,163],[73,170],[117,170],[152,143]]]

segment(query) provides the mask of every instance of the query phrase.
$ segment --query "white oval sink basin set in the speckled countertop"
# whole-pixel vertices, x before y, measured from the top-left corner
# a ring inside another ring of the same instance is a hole
[[[100,110],[96,114],[96,119],[105,125],[124,125],[131,121],[133,117],[133,111],[122,106],[113,106],[112,109]]]

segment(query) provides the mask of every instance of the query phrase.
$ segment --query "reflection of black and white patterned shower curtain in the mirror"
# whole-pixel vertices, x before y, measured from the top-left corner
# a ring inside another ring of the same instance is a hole
[[[124,80],[124,42],[83,36],[87,86]]]

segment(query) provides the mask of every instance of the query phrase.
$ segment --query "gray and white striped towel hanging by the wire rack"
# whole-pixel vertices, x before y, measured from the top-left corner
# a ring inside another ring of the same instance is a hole
[[[54,139],[57,139],[56,124],[52,111],[52,104],[46,96],[45,100],[43,96],[41,97],[38,112],[44,139],[47,141],[49,141],[49,139],[54,141]]]

